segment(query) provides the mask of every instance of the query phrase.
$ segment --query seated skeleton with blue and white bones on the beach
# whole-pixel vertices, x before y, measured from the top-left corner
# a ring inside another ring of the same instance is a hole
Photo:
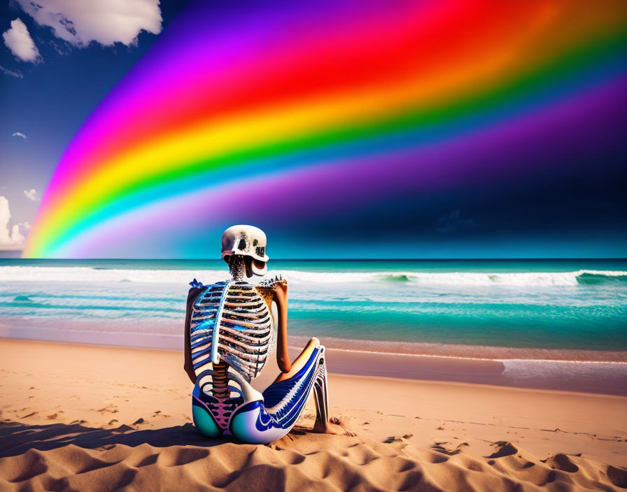
[[[258,284],[246,279],[246,256],[267,261],[265,234],[259,229],[227,229],[223,256],[225,250],[230,280],[208,286],[195,279],[190,283],[192,290],[199,290],[188,307],[188,349],[197,376],[192,413],[197,428],[209,437],[224,433],[246,442],[272,442],[290,431],[312,390],[318,420],[327,423],[325,348],[315,338],[293,368],[279,375],[263,394],[251,386],[272,348],[272,300],[276,289],[286,288],[287,282],[279,276]],[[265,264],[256,268],[266,271]]]

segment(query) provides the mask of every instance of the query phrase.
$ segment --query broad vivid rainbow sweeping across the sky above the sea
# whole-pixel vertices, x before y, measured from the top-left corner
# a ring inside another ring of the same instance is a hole
[[[627,107],[626,41],[623,0],[193,3],[76,133],[24,256],[206,257],[232,223],[563,166]]]

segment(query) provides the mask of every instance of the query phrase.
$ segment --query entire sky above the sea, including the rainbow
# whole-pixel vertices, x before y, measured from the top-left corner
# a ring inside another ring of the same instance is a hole
[[[251,223],[281,258],[627,256],[619,3],[41,3],[0,10],[0,249],[212,258]]]

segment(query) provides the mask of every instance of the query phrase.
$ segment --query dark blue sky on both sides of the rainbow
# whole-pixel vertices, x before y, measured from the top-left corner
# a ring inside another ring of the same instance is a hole
[[[20,19],[38,55],[24,61],[7,43],[0,46],[0,196],[10,207],[10,219],[0,217],[0,249],[19,249],[19,240],[11,243],[13,227],[17,225],[22,236],[28,233],[24,224],[33,221],[64,148],[159,36],[140,29],[129,43],[103,45],[89,41],[88,32],[81,35],[83,41],[78,34],[68,41],[36,22],[21,3],[2,3],[0,33]],[[162,1],[161,28],[167,29],[184,6],[181,1]],[[451,176],[449,185],[432,192],[401,191],[383,203],[365,201],[359,210],[291,224],[289,231],[281,231],[281,224],[258,225],[274,234],[275,257],[624,257],[626,128],[627,115],[614,115],[603,129],[612,146],[594,147],[591,142],[594,151],[584,154],[574,147],[570,156],[559,154],[564,159],[559,165],[511,173],[498,182],[486,175],[483,184],[473,180],[467,187],[463,177]],[[551,144],[547,140],[525,158],[535,152],[542,159]],[[505,165],[517,158],[502,154]],[[410,234],[402,232],[408,224]],[[297,244],[295,237],[303,244],[300,251],[278,244]],[[308,243],[315,247],[308,249]],[[206,256],[213,253],[208,250]]]

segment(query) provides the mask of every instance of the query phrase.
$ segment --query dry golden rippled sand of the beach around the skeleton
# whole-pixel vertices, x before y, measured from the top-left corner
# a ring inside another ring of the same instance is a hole
[[[195,431],[181,352],[5,339],[0,361],[1,491],[627,488],[625,396],[332,373],[355,437],[311,433],[310,402],[254,446]]]

